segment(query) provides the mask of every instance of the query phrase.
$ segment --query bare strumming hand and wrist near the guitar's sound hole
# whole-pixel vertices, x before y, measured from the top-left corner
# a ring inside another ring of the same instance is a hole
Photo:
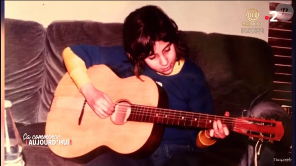
[[[114,112],[114,105],[109,96],[97,90],[90,82],[80,88],[92,110],[100,118],[107,118]]]

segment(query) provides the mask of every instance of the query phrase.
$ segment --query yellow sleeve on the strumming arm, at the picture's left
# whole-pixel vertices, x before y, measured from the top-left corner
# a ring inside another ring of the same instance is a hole
[[[84,61],[79,58],[70,47],[64,49],[62,57],[70,77],[80,91],[83,85],[90,82]]]

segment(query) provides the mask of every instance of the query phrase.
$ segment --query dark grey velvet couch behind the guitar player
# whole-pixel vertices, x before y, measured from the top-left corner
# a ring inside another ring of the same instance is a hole
[[[55,88],[66,73],[61,52],[73,44],[121,45],[122,24],[56,21],[43,27],[34,21],[5,20],[5,98],[21,137],[44,134]],[[234,35],[183,32],[190,59],[206,74],[217,115],[241,116],[269,100],[273,53],[263,40]],[[231,133],[205,155],[213,165],[239,165],[247,137]],[[24,145],[27,165],[80,165],[55,156],[46,146]],[[244,165],[242,165],[244,166]]]

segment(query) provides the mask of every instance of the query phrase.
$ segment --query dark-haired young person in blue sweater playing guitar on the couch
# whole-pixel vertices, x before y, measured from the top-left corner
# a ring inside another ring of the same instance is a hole
[[[124,47],[73,45],[62,53],[70,77],[97,116],[107,118],[114,112],[108,94],[97,90],[87,75],[87,68],[98,64],[107,65],[122,78],[149,76],[165,89],[170,109],[214,113],[203,71],[185,58],[187,50],[179,39],[177,24],[159,7],[145,6],[130,13],[124,22],[123,39]],[[227,135],[228,127],[219,120],[213,122],[211,130],[166,127],[159,148],[150,158],[136,160],[109,152],[87,165],[163,165],[173,155],[202,151]]]

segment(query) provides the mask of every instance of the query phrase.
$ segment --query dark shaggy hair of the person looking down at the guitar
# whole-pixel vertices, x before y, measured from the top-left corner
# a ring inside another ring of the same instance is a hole
[[[144,59],[154,54],[156,41],[175,45],[177,61],[187,54],[181,42],[178,25],[158,6],[144,6],[130,13],[124,22],[123,43],[125,51],[134,64],[137,77],[144,66]]]

